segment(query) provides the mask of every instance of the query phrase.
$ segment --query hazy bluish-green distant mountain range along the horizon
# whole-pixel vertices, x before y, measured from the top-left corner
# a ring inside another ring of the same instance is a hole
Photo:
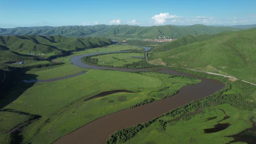
[[[238,31],[234,27],[214,27],[202,24],[190,26],[163,25],[140,27],[136,25],[92,25],[92,26],[61,26],[61,27],[16,27],[0,28],[0,36],[11,35],[41,35],[67,37],[108,37],[112,39],[155,39],[166,36],[170,39],[179,39],[184,36],[198,36],[200,34],[216,34],[221,31]]]

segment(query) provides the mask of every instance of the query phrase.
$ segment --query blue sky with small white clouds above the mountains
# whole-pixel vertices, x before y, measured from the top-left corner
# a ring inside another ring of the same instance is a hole
[[[0,0],[0,28],[256,24],[256,0]]]

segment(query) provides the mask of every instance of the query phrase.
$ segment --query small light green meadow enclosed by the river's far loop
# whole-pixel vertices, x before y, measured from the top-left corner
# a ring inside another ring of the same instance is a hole
[[[122,67],[125,64],[141,61],[144,58],[143,53],[112,53],[107,55],[98,55],[91,58],[97,58],[100,65],[112,65],[113,67]]]

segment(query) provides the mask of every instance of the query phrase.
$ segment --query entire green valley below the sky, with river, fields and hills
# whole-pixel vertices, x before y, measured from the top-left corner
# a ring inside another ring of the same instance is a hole
[[[2,28],[0,143],[253,144],[247,27]]]

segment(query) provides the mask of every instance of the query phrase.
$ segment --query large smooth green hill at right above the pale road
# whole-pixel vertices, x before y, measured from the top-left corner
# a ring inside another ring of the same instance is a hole
[[[188,36],[149,53],[150,62],[229,74],[256,83],[256,28],[211,36]]]

